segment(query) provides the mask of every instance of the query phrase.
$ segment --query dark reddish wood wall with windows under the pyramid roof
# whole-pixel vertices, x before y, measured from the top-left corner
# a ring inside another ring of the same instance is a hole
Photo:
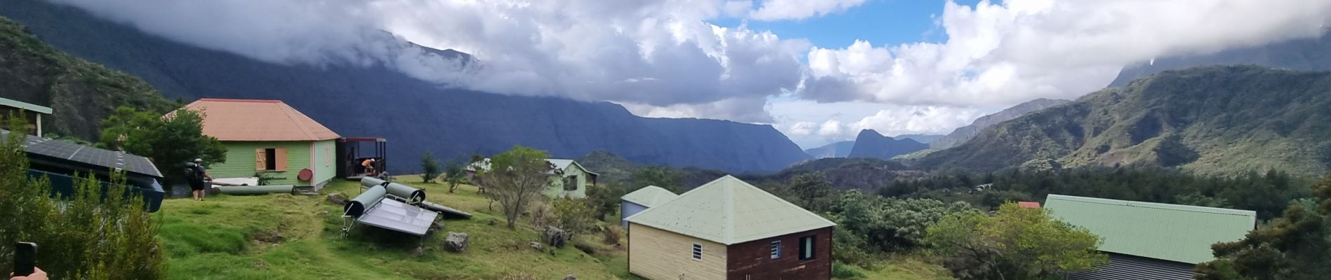
[[[813,259],[800,260],[800,238],[816,235]],[[771,257],[772,242],[781,240],[781,257]],[[727,279],[823,280],[832,279],[832,227],[759,239],[727,247]]]

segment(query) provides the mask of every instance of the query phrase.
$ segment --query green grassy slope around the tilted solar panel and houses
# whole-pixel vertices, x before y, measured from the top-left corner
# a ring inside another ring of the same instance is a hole
[[[413,180],[403,178],[403,180]],[[415,179],[418,180],[418,179]],[[170,279],[638,279],[628,273],[623,245],[603,244],[600,235],[574,243],[595,248],[587,253],[567,245],[554,252],[530,247],[538,234],[530,220],[504,227],[502,212],[473,186],[449,194],[443,184],[411,183],[430,202],[471,212],[471,219],[445,220],[443,231],[419,239],[371,227],[342,238],[342,208],[325,196],[210,196],[205,202],[164,202],[161,242]],[[359,194],[355,182],[335,180],[323,194]],[[612,226],[618,226],[614,220]],[[491,220],[494,223],[491,224]],[[467,252],[443,251],[447,232],[467,232]],[[622,239],[627,240],[627,239]],[[422,253],[415,255],[418,247]],[[936,265],[889,263],[866,271],[868,279],[940,279]]]

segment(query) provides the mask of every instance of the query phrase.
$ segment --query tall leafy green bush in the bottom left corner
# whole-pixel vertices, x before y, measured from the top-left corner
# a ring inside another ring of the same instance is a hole
[[[77,176],[72,196],[52,196],[49,179],[28,176],[21,142],[23,134],[12,133],[0,143],[0,252],[13,252],[16,242],[40,244],[37,263],[52,279],[166,277],[157,224],[122,173],[110,171],[102,178],[108,184]],[[0,257],[0,267],[12,261]]]

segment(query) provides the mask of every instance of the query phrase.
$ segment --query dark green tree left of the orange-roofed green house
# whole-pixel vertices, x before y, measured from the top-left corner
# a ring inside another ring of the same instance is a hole
[[[205,165],[226,162],[226,146],[204,135],[204,114],[176,110],[158,115],[120,106],[101,121],[97,146],[152,158],[168,180],[184,182],[184,163],[194,158]]]

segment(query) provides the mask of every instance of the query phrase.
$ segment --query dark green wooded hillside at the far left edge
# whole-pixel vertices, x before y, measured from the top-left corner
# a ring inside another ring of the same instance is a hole
[[[52,117],[43,118],[45,131],[88,141],[97,138],[97,123],[118,105],[176,107],[142,80],[56,50],[4,17],[0,97],[52,107]]]

